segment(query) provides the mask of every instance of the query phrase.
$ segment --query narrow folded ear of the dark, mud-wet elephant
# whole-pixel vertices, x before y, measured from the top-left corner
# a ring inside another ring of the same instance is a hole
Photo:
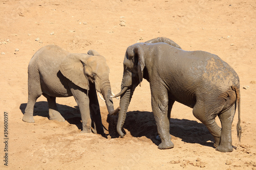
[[[138,76],[139,76],[139,83],[143,80],[143,69],[145,67],[145,59],[144,59],[144,53],[140,46],[136,46],[134,48],[134,58],[135,61],[138,61]]]

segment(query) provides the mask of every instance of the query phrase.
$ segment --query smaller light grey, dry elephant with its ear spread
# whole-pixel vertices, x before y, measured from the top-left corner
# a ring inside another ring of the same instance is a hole
[[[28,104],[23,121],[34,123],[34,104],[41,94],[47,98],[50,119],[65,121],[58,112],[56,97],[73,95],[81,113],[82,132],[91,132],[93,123],[93,131],[104,134],[96,90],[103,94],[109,113],[114,113],[109,67],[104,57],[94,50],[72,54],[57,45],[44,46],[29,62]]]

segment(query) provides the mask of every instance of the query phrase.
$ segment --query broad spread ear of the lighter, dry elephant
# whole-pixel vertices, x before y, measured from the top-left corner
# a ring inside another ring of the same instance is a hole
[[[84,75],[83,63],[86,62],[87,55],[70,54],[59,66],[59,70],[63,76],[73,82],[75,85],[89,90],[89,81]]]

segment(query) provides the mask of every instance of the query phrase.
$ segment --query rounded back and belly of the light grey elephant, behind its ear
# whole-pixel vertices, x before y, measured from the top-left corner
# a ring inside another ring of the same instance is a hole
[[[59,65],[69,55],[57,45],[47,45],[40,48],[32,57],[29,67],[29,77],[38,72],[43,93],[50,96],[70,96],[68,81],[59,71]]]

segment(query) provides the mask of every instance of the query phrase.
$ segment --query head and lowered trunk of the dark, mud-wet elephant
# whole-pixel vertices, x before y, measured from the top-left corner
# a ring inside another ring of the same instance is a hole
[[[121,96],[120,111],[117,122],[117,132],[121,137],[124,136],[121,128],[123,126],[133,92],[143,79],[145,60],[144,52],[140,44],[141,43],[137,43],[127,48],[123,61],[123,79],[121,83],[121,92],[115,96],[112,96]]]

